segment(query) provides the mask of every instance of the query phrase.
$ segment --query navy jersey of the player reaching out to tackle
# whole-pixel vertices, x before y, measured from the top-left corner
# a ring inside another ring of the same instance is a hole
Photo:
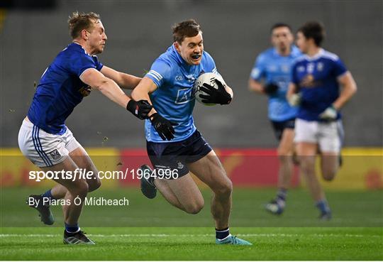
[[[41,77],[28,119],[48,133],[65,133],[65,120],[91,91],[91,87],[79,79],[80,75],[88,68],[100,71],[102,67],[97,57],[88,55],[81,45],[68,45]]]

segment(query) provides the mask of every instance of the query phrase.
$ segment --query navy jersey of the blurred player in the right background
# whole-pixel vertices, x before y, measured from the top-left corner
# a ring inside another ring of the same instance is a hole
[[[338,56],[323,49],[311,58],[304,55],[297,59],[292,70],[292,82],[302,96],[296,117],[306,121],[323,121],[319,114],[338,99],[338,77],[345,72],[347,69]],[[340,119],[339,113],[337,119]]]

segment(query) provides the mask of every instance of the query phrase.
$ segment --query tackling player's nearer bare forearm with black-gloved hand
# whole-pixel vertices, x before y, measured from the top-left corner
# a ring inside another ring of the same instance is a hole
[[[80,80],[90,87],[98,89],[102,94],[111,99],[111,101],[131,111],[138,119],[148,118],[148,113],[152,109],[152,105],[150,105],[148,101],[140,100],[136,102],[131,99],[118,87],[116,82],[105,77],[96,69],[89,68],[85,70],[82,75],[80,75]]]

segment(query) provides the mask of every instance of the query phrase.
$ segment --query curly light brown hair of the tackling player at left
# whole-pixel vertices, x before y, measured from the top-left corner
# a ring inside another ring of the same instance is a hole
[[[99,21],[100,15],[98,13],[79,13],[75,11],[68,19],[70,28],[70,36],[76,39],[80,36],[81,31],[84,29],[91,29],[93,27],[93,21]]]

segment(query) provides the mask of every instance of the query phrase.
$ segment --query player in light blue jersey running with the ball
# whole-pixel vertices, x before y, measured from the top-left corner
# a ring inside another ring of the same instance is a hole
[[[232,183],[216,153],[194,126],[192,116],[195,98],[192,93],[197,77],[215,72],[216,65],[204,52],[202,31],[194,20],[177,23],[173,27],[174,43],[152,64],[138,86],[134,99],[151,101],[150,120],[145,122],[147,150],[157,174],[167,170],[178,178],[141,180],[144,195],[153,198],[160,190],[165,199],[189,214],[204,207],[204,198],[191,173],[213,190],[211,213],[216,224],[216,244],[250,245],[232,236],[228,228],[231,212]],[[216,80],[218,89],[204,84],[206,103],[229,104],[233,91]],[[152,170],[148,165],[141,170]],[[153,170],[154,171],[154,170]],[[191,172],[191,173],[190,173]]]

